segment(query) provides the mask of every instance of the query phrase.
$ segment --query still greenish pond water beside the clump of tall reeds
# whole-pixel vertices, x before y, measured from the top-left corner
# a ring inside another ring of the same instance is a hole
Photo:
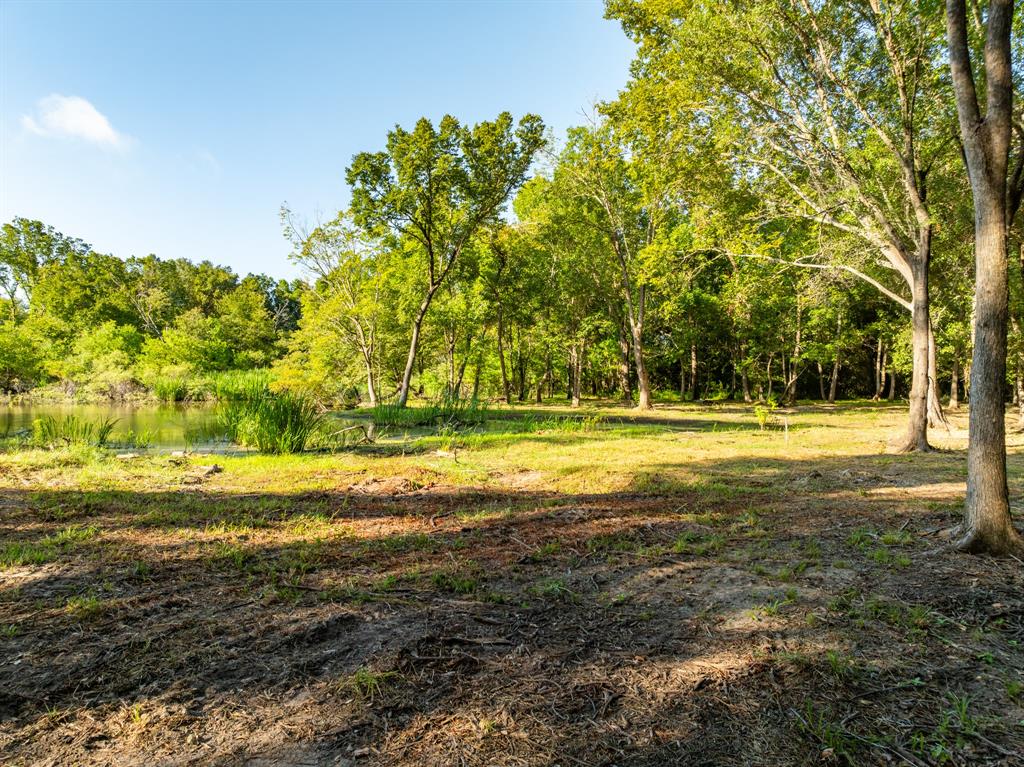
[[[0,437],[32,431],[37,418],[53,416],[78,418],[99,422],[116,421],[111,432],[112,446],[127,446],[129,435],[144,441],[152,450],[202,450],[223,451],[232,445],[224,437],[217,421],[215,404],[126,404],[126,403],[63,403],[24,402],[0,404]],[[332,414],[338,428],[368,423],[366,419]]]

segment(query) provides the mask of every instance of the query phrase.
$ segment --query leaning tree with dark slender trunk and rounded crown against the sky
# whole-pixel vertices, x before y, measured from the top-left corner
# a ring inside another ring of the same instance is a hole
[[[388,133],[387,150],[356,155],[346,177],[356,223],[414,243],[422,259],[421,300],[412,322],[398,390],[404,407],[423,321],[470,239],[501,212],[544,143],[544,125],[508,113],[473,128],[445,116],[435,128],[422,118],[412,131]]]

